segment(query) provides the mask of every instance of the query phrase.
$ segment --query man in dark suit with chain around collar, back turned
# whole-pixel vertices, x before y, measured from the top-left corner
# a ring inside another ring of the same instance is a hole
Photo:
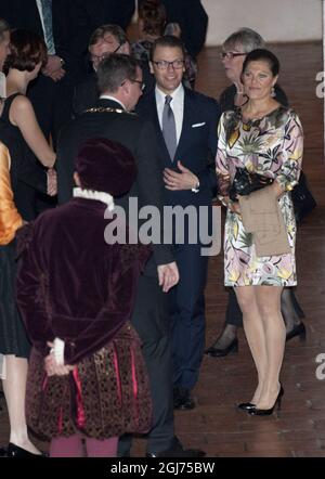
[[[116,198],[116,204],[128,212],[129,199],[135,198],[141,207],[151,205],[161,211],[162,169],[155,132],[148,121],[130,113],[142,93],[141,68],[128,55],[112,54],[100,63],[98,76],[101,96],[95,107],[72,121],[60,134],[56,160],[58,200],[64,203],[72,196],[74,158],[81,143],[92,137],[104,137],[128,147],[138,166],[133,186],[127,195]],[[153,258],[139,283],[131,319],[142,339],[153,397],[153,427],[148,432],[147,454],[157,457],[167,454],[198,456],[203,455],[202,451],[184,451],[173,432],[171,357],[164,292],[178,282],[178,269],[168,246],[156,244],[153,249]],[[125,438],[119,454],[129,455],[130,448],[131,439]]]

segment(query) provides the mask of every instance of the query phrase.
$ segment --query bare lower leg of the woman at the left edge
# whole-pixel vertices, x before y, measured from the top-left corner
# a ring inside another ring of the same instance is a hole
[[[34,454],[40,454],[27,433],[25,416],[27,359],[6,355],[5,362],[6,379],[3,379],[2,385],[9,412],[10,442]]]

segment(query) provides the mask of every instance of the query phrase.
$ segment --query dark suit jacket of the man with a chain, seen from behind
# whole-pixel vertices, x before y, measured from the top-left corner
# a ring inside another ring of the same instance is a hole
[[[99,107],[121,108],[119,103],[99,100]],[[58,203],[73,195],[74,160],[82,142],[89,138],[104,137],[117,141],[133,154],[138,177],[130,192],[116,199],[116,204],[129,211],[129,197],[136,197],[139,206],[153,205],[162,209],[162,166],[155,142],[153,126],[130,113],[83,113],[62,129],[57,144]],[[173,261],[171,248],[154,245],[154,255],[146,266],[145,274],[156,276],[156,266]]]

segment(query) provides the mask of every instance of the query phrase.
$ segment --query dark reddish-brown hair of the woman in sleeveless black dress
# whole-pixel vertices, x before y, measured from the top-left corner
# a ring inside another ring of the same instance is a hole
[[[4,70],[15,68],[20,72],[32,72],[38,63],[46,64],[48,59],[44,40],[34,31],[16,29],[10,36],[10,54],[4,63]]]

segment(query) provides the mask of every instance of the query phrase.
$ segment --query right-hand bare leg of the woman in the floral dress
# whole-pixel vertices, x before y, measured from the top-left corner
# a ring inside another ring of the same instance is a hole
[[[268,370],[258,409],[273,406],[280,390],[280,371],[283,363],[286,328],[281,313],[282,287],[257,286],[257,303],[263,321],[268,352]]]

